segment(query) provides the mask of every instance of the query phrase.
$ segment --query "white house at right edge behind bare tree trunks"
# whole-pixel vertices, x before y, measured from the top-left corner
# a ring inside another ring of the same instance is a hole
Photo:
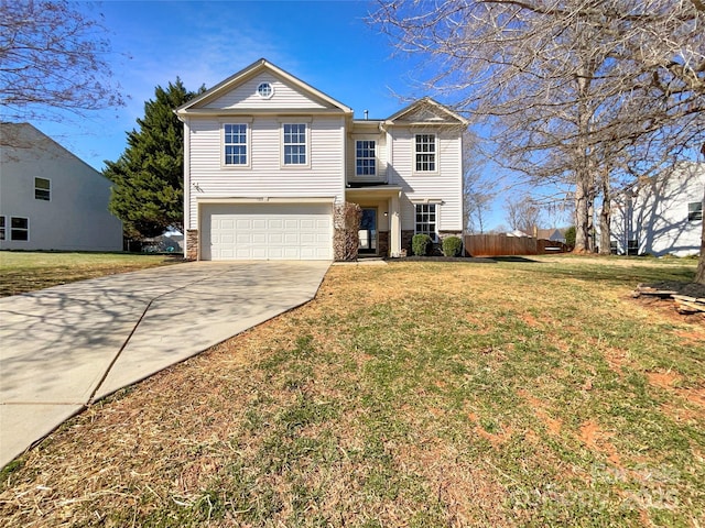
[[[668,176],[640,179],[612,200],[612,251],[698,254],[704,196],[703,163],[683,163]]]

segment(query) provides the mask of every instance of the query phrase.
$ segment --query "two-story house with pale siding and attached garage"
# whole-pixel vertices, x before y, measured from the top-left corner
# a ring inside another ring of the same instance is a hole
[[[463,131],[431,99],[382,120],[260,59],[176,109],[184,122],[185,253],[332,260],[334,209],[362,208],[360,252],[463,229]]]

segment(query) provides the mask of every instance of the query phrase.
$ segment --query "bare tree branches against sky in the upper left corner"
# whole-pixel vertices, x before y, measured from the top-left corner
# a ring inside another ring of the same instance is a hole
[[[0,107],[6,121],[124,105],[100,20],[63,0],[0,1]],[[10,141],[0,139],[0,144]]]

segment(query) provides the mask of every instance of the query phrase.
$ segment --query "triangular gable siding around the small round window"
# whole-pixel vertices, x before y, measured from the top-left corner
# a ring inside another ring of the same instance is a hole
[[[274,88],[274,95],[269,99],[263,99],[257,94],[260,82],[270,82]],[[268,109],[325,109],[332,108],[319,100],[313,100],[294,89],[292,86],[283,84],[271,74],[258,75],[242,85],[236,87],[218,99],[204,105],[203,108],[268,110]]]

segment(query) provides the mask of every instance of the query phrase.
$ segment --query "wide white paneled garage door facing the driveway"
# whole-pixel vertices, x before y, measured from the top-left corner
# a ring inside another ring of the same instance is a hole
[[[325,204],[205,205],[200,257],[333,260],[330,210]]]

